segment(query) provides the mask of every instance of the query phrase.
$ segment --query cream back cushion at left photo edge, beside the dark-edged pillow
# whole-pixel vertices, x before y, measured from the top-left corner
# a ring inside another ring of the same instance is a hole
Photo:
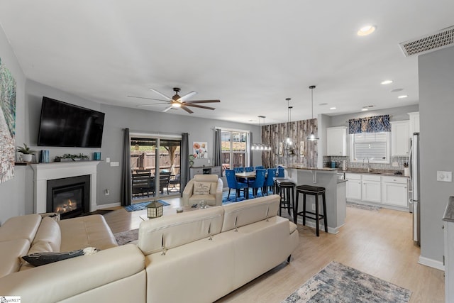
[[[0,277],[19,270],[21,257],[27,254],[28,248],[30,242],[23,238],[0,242]]]

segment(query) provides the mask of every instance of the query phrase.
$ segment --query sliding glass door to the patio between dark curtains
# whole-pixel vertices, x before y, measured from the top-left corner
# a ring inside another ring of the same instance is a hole
[[[131,134],[133,203],[179,195],[180,145],[181,138]]]

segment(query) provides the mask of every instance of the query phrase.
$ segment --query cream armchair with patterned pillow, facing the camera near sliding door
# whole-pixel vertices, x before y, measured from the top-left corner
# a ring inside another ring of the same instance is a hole
[[[223,182],[218,175],[194,175],[183,190],[183,205],[199,204],[205,200],[207,205],[222,205]]]

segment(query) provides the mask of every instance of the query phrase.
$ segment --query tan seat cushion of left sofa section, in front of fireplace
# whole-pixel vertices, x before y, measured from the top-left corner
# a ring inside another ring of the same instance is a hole
[[[103,216],[79,216],[58,222],[62,233],[60,251],[70,251],[85,247],[104,250],[118,246],[114,233]]]

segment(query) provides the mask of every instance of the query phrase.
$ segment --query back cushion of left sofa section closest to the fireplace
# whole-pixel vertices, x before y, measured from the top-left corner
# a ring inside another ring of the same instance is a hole
[[[40,223],[41,216],[39,214],[13,216],[0,227],[0,242],[23,238],[32,243]]]

